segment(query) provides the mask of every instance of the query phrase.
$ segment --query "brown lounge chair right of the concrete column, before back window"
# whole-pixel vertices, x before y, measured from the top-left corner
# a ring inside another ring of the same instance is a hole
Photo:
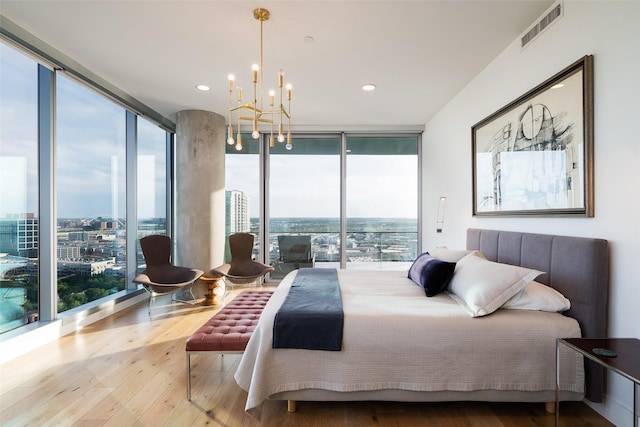
[[[212,269],[208,276],[222,277],[227,290],[233,285],[262,285],[264,276],[273,271],[273,267],[255,261],[252,257],[254,236],[250,233],[235,233],[229,236],[231,261]],[[224,298],[223,298],[224,299]]]

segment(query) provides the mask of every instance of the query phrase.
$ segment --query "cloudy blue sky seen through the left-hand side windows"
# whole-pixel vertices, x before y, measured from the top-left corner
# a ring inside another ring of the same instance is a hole
[[[37,65],[0,44],[0,69],[0,217],[37,214]],[[125,114],[122,107],[57,75],[59,218],[125,216]],[[144,189],[139,192],[138,216],[164,217],[165,132],[139,119],[138,136],[143,155],[139,183]]]

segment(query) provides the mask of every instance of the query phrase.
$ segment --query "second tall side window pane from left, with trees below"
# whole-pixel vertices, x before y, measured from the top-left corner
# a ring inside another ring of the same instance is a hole
[[[125,110],[56,80],[58,312],[125,288]]]

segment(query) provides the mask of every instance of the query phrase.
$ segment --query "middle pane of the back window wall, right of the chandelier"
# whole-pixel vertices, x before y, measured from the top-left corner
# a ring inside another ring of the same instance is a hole
[[[269,149],[271,278],[340,265],[340,135],[293,138]]]

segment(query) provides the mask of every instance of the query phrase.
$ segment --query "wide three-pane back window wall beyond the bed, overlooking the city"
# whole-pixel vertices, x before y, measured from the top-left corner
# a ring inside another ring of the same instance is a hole
[[[408,268],[419,251],[419,142],[418,134],[325,134],[294,135],[290,150],[265,146],[265,204],[251,210],[252,231],[267,226],[271,279],[310,266]],[[251,170],[253,202],[260,156],[251,146],[227,149],[226,188]],[[227,213],[238,203],[228,199]]]

